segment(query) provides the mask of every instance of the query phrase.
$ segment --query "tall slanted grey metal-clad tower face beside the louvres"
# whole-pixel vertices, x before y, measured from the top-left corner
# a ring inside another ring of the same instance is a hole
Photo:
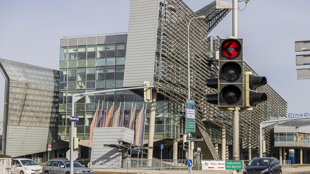
[[[159,0],[131,0],[124,87],[153,81],[158,6]]]

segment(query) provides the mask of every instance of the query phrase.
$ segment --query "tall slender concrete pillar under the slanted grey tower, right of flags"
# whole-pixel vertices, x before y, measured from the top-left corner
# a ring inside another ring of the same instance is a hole
[[[148,132],[148,147],[153,147],[153,142],[154,142],[156,94],[157,94],[157,91],[153,89],[152,90],[151,113],[150,113],[150,128]],[[153,149],[148,149],[148,159],[153,159]]]

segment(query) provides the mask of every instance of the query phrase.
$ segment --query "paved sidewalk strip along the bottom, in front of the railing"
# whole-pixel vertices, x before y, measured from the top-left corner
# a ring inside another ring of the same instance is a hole
[[[127,173],[127,169],[98,169],[93,168],[96,174],[100,173]],[[142,170],[142,169],[129,169],[128,173],[144,173],[144,174],[187,174],[187,170]],[[243,171],[239,172],[242,173]],[[310,172],[310,167],[298,167],[298,168],[283,168],[283,174],[299,174]],[[191,174],[202,174],[202,173],[214,173],[214,174],[229,174],[229,170],[194,170]]]

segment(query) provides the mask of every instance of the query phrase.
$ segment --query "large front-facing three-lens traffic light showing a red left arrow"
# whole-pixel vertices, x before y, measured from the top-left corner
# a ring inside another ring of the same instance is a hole
[[[219,107],[243,107],[242,39],[219,40],[218,80]]]

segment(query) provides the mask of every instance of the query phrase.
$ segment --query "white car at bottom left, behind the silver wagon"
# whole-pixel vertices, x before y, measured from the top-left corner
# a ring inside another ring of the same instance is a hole
[[[32,159],[13,159],[12,174],[42,174],[42,167]]]

